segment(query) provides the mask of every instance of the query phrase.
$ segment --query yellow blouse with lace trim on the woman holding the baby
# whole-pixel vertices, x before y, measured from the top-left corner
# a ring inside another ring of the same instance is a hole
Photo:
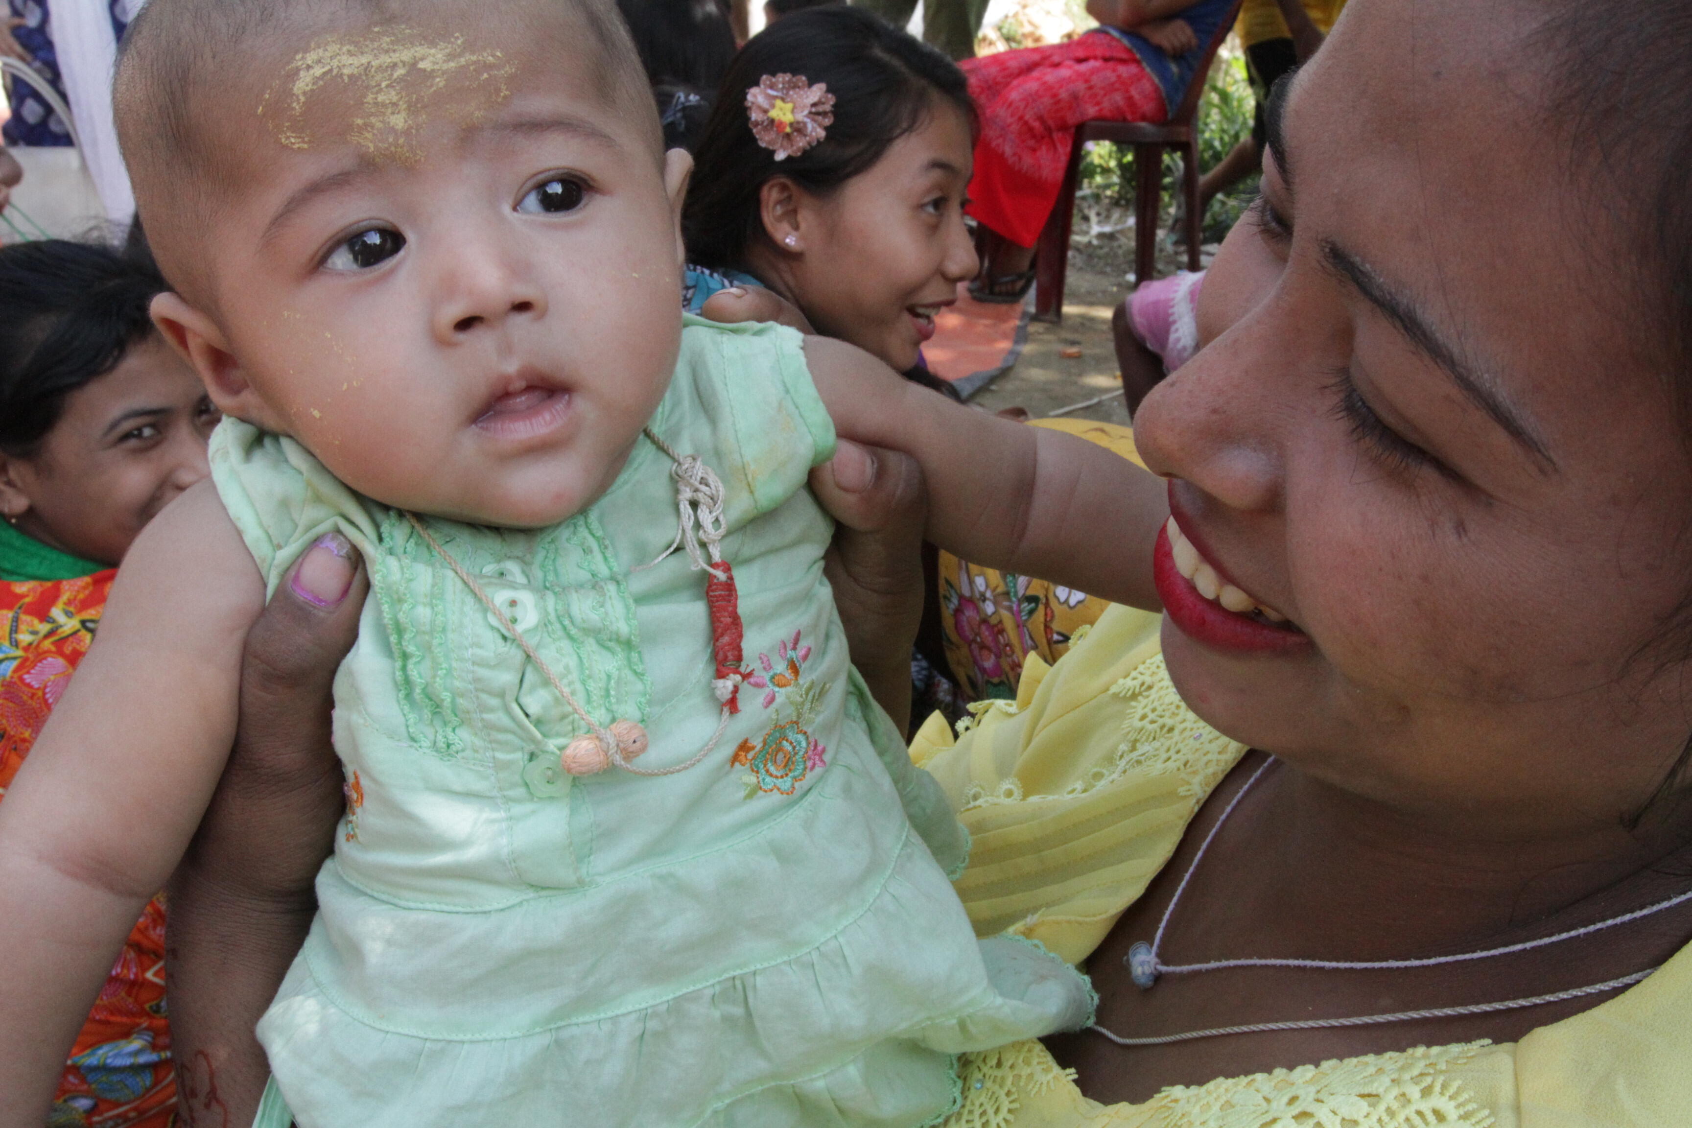
[[[1169,861],[1244,747],[1195,717],[1164,673],[1159,617],[1113,607],[1015,702],[953,739],[912,742],[975,837],[958,893],[980,935],[1086,959]],[[1692,949],[1655,976],[1513,1045],[1376,1054],[1164,1089],[1081,1096],[1039,1042],[963,1057],[946,1128],[1668,1128],[1692,1125]]]

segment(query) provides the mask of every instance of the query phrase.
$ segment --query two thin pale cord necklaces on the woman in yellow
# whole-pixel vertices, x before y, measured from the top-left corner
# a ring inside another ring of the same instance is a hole
[[[1217,834],[1228,820],[1228,815],[1233,813],[1233,808],[1240,805],[1240,800],[1245,798],[1245,793],[1252,790],[1257,780],[1261,780],[1262,775],[1269,771],[1269,768],[1274,763],[1276,763],[1274,756],[1264,761],[1264,764],[1252,773],[1252,778],[1245,781],[1245,786],[1235,791],[1233,798],[1228,800],[1228,805],[1223,807],[1222,817],[1217,819],[1215,825],[1210,827],[1210,834],[1205,835],[1205,841],[1200,844],[1198,852],[1193,854],[1193,861],[1188,864],[1186,873],[1181,874],[1181,883],[1176,886],[1174,896],[1169,898],[1169,905],[1164,908],[1162,920],[1157,922],[1157,932],[1154,934],[1152,942],[1145,944],[1144,940],[1140,940],[1132,949],[1129,949],[1129,956],[1123,959],[1123,962],[1129,966],[1129,972],[1132,974],[1135,986],[1139,986],[1142,991],[1151,989],[1157,983],[1157,979],[1166,974],[1179,976],[1200,971],[1218,971],[1222,967],[1315,967],[1320,971],[1396,971],[1404,967],[1433,967],[1437,964],[1457,964],[1472,959],[1508,956],[1511,952],[1526,952],[1530,949],[1545,947],[1548,944],[1558,944],[1562,940],[1574,940],[1577,937],[1590,935],[1594,932],[1612,928],[1616,925],[1640,920],[1643,917],[1651,917],[1655,913],[1673,908],[1675,905],[1692,901],[1692,891],[1687,891],[1680,893],[1678,896],[1670,896],[1655,905],[1634,910],[1631,913],[1611,917],[1609,920],[1601,920],[1597,923],[1584,925],[1580,928],[1558,932],[1555,935],[1541,937],[1538,940],[1524,940],[1521,944],[1508,944],[1504,947],[1492,947],[1479,952],[1460,952],[1457,956],[1435,956],[1430,959],[1387,959],[1387,961],[1222,959],[1205,964],[1164,964],[1161,959],[1157,959],[1157,950],[1162,947],[1164,934],[1169,930],[1169,918],[1174,915],[1176,905],[1181,903],[1181,895],[1186,893],[1186,886],[1193,881],[1193,873],[1198,869],[1198,862],[1205,859],[1205,852],[1210,849],[1210,844],[1217,841]],[[1394,1021],[1415,1021],[1420,1018],[1453,1018],[1460,1015],[1486,1015],[1492,1011],[1521,1010],[1526,1006],[1545,1006],[1548,1003],[1562,1003],[1565,999],[1577,999],[1587,994],[1616,991],[1619,988],[1628,988],[1636,983],[1641,983],[1646,976],[1653,974],[1655,971],[1656,967],[1648,967],[1645,971],[1636,971],[1629,976],[1621,976],[1619,979],[1606,979],[1604,983],[1594,983],[1584,988],[1570,988],[1567,991],[1553,991],[1550,994],[1533,994],[1521,999],[1504,999],[1499,1003],[1472,1003],[1467,1006],[1438,1006],[1431,1010],[1416,1010],[1416,1011],[1393,1011],[1387,1015],[1357,1015],[1352,1018],[1303,1018],[1289,1021],[1249,1023],[1240,1027],[1211,1027],[1208,1030],[1188,1030],[1184,1033],[1169,1033],[1149,1038],[1123,1038],[1122,1035],[1112,1033],[1110,1030],[1105,1030],[1096,1023],[1090,1025],[1088,1030],[1107,1037],[1117,1045],[1135,1047],[1135,1045],[1169,1045],[1171,1042],[1193,1042],[1196,1038],[1220,1038],[1233,1033],[1266,1033],[1276,1030],[1327,1030],[1333,1027],[1372,1027]]]

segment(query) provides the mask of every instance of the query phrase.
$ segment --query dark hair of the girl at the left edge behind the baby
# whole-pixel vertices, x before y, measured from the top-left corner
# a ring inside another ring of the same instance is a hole
[[[164,289],[144,255],[63,238],[0,247],[0,452],[32,457],[64,399],[152,331]]]

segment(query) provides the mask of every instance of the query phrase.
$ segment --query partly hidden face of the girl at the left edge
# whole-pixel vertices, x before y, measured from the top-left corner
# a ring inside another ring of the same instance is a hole
[[[0,457],[0,509],[61,551],[115,565],[140,528],[206,477],[218,413],[157,335],[64,401],[32,458]]]

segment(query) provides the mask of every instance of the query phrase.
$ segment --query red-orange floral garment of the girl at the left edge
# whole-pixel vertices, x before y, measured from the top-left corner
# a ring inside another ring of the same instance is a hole
[[[93,641],[117,572],[0,582],[0,797]],[[176,1074],[164,1011],[164,900],[156,896],[88,1011],[47,1118],[52,1128],[169,1128]]]

